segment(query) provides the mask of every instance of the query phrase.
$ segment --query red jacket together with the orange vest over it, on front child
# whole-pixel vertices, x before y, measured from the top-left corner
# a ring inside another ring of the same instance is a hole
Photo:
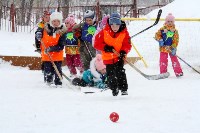
[[[106,53],[104,51],[105,45],[113,46],[117,52],[121,50],[125,51],[127,54],[130,52],[132,46],[125,22],[122,21],[117,33],[113,32],[110,25],[107,24],[94,39],[94,48],[102,51],[104,64],[116,63],[119,60],[118,56],[111,52]]]

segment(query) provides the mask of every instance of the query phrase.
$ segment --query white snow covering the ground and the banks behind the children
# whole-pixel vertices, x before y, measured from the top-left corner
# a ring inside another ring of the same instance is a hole
[[[175,2],[190,5],[187,0]],[[173,13],[179,7],[182,6],[163,12]],[[188,12],[194,14],[193,11],[196,8],[191,7]],[[151,24],[132,22],[128,29],[133,35]],[[162,24],[132,39],[149,67],[145,68],[141,61],[135,65],[146,74],[159,73],[158,44],[153,35]],[[200,70],[199,22],[176,25],[180,27],[177,54]],[[32,34],[0,31],[0,40],[0,55],[38,56],[33,52]],[[133,55],[134,50],[129,56]],[[113,97],[110,90],[94,94],[74,91],[65,80],[63,88],[49,88],[43,83],[41,71],[14,67],[0,60],[0,133],[199,133],[200,75],[180,63],[184,77],[176,78],[169,62],[171,76],[156,81],[145,79],[126,65],[129,95]],[[63,72],[68,73],[66,67]],[[119,114],[117,123],[109,120],[112,112]]]

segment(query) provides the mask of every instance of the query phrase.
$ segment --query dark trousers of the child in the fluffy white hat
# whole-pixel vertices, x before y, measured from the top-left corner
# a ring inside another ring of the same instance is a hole
[[[44,63],[44,79],[46,80],[46,82],[53,82],[53,78],[55,77],[54,79],[55,85],[62,85],[62,82],[60,81],[58,75],[56,74],[56,71],[52,63],[50,61],[44,61],[43,63]],[[62,61],[54,61],[54,63],[57,66],[60,75],[62,76]]]

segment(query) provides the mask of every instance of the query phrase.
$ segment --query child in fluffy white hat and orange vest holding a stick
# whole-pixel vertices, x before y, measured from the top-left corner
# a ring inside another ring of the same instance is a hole
[[[66,32],[65,25],[62,24],[62,14],[59,12],[53,12],[50,15],[50,22],[45,25],[41,31],[36,33],[36,37],[41,41],[41,55],[44,62],[44,78],[47,85],[54,84],[61,86],[62,82],[59,79],[58,74],[55,72],[54,67],[47,53],[55,63],[60,75],[62,76],[62,61],[63,61],[63,48],[65,43],[65,37],[63,33]],[[45,47],[44,47],[45,46]]]

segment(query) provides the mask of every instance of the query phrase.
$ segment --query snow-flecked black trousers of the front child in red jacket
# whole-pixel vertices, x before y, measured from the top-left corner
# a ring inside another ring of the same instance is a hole
[[[120,62],[116,62],[115,64],[107,64],[106,72],[108,76],[108,87],[111,90],[118,88],[119,90],[127,91],[128,83],[126,73]]]

